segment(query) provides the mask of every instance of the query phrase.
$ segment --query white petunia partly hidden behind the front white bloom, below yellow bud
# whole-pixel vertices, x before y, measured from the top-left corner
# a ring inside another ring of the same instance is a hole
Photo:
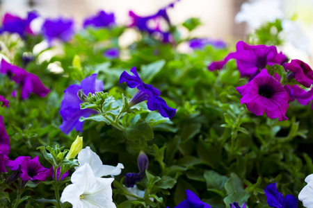
[[[79,152],[77,158],[79,167],[83,166],[84,164],[88,164],[93,170],[95,177],[120,175],[122,168],[124,168],[123,164],[121,163],[119,163],[116,167],[102,164],[100,157],[95,152],[93,152],[93,150],[90,150],[90,147],[88,146]]]

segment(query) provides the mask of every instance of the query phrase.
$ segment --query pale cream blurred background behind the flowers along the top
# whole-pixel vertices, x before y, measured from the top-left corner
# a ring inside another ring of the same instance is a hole
[[[1,0],[1,16],[6,12],[22,17],[37,10],[43,17],[72,17],[77,28],[84,18],[99,10],[114,12],[118,24],[129,24],[129,10],[138,15],[152,15],[172,0]],[[203,25],[193,31],[195,37],[211,37],[225,41],[243,40],[245,25],[234,17],[244,0],[181,0],[168,9],[172,24],[181,24],[189,17],[198,17]],[[184,33],[184,31],[182,31]]]

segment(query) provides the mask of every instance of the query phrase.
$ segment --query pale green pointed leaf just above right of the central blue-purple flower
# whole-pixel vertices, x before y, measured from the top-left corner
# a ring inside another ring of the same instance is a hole
[[[141,66],[141,78],[145,83],[150,83],[154,76],[161,71],[161,69],[166,64],[165,60],[158,60],[157,62],[152,62],[151,64]]]

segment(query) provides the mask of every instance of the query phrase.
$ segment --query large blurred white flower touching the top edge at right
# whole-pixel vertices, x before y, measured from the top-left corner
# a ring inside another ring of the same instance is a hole
[[[259,28],[262,24],[275,19],[282,19],[284,14],[280,8],[280,0],[260,0],[252,3],[243,3],[235,21],[246,21],[251,28]]]

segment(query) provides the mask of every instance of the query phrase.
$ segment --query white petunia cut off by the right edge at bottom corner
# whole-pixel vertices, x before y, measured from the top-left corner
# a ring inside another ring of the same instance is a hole
[[[307,185],[299,193],[299,200],[303,202],[303,206],[313,208],[313,174],[305,177]]]

